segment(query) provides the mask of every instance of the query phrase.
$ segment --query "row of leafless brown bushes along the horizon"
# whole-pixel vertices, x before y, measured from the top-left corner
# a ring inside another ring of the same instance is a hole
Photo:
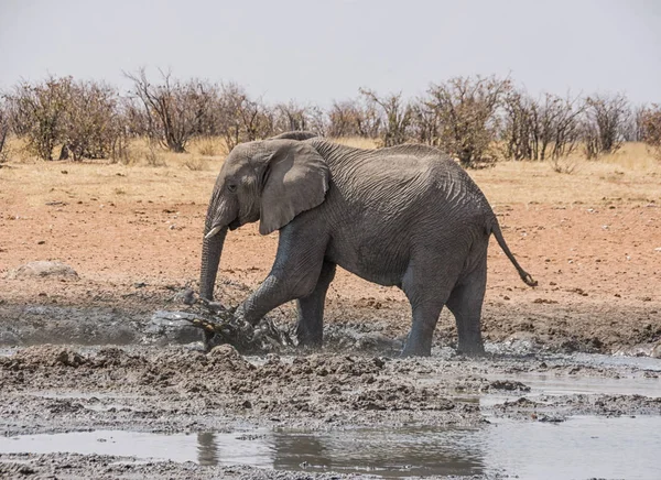
[[[167,165],[165,151],[206,157],[237,143],[292,130],[330,138],[362,138],[376,146],[434,145],[465,167],[496,161],[552,161],[572,173],[572,160],[615,154],[625,142],[646,142],[659,154],[661,109],[635,108],[622,94],[533,98],[509,78],[455,77],[431,84],[425,95],[379,95],[361,88],[327,110],[295,101],[270,105],[236,84],[176,79],[144,69],[127,74],[126,95],[104,83],[50,77],[20,83],[0,102],[0,154],[10,133],[22,151],[43,160],[108,159]],[[147,151],[142,143],[147,139]],[[199,171],[205,162],[186,161]]]

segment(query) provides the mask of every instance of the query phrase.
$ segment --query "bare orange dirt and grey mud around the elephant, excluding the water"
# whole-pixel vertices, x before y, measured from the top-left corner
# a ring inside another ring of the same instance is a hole
[[[223,430],[246,424],[311,430],[415,423],[479,428],[485,410],[470,394],[521,386],[498,383],[494,375],[659,381],[654,370],[586,367],[562,357],[661,357],[658,168],[600,165],[557,175],[546,166],[503,164],[472,173],[492,201],[511,250],[539,281],[535,288],[525,286],[492,243],[483,327],[488,359],[454,356],[456,330],[446,312],[432,359],[397,359],[410,326],[402,293],[339,271],[328,293],[324,351],[247,361],[229,347],[207,356],[194,345],[169,346],[194,342],[199,335],[172,332],[153,317],[156,310],[184,309],[182,290],[197,290],[206,199],[218,167],[214,159],[208,162],[203,171],[73,163],[0,168],[0,348],[7,349],[0,356],[0,429],[6,436],[98,428]],[[245,298],[267,275],[277,243],[278,233],[261,237],[256,226],[230,232],[217,298],[227,305]],[[64,262],[78,277],[13,277],[15,269],[36,260]],[[292,325],[293,315],[291,305],[272,314],[284,326]],[[614,414],[661,415],[661,404],[654,395],[602,392],[489,408],[494,417],[540,422]],[[248,467],[124,467],[109,456],[0,454],[0,477],[21,476],[299,478]]]

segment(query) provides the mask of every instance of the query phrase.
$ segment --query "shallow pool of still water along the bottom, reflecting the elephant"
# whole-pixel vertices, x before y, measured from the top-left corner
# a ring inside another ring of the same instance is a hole
[[[382,477],[508,474],[527,479],[661,478],[661,417],[498,421],[483,428],[252,430],[149,434],[97,430],[1,437],[0,452],[76,452]]]

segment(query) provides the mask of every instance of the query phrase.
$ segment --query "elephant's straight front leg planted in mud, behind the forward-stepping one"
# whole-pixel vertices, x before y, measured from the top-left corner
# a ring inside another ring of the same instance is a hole
[[[314,291],[299,298],[299,323],[296,338],[299,345],[321,347],[324,340],[324,304],[326,292],[335,276],[335,263],[324,262]]]

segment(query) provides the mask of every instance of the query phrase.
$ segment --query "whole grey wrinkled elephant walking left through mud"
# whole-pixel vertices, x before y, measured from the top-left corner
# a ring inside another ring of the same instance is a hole
[[[235,315],[256,325],[295,299],[296,336],[306,346],[322,343],[336,265],[405,293],[413,321],[404,356],[430,354],[444,305],[456,318],[458,350],[484,352],[480,313],[491,233],[521,279],[535,285],[477,185],[427,146],[360,150],[301,132],[237,145],[208,207],[202,297],[213,299],[227,229],[258,220],[262,234],[280,230],[278,253],[271,273]]]

